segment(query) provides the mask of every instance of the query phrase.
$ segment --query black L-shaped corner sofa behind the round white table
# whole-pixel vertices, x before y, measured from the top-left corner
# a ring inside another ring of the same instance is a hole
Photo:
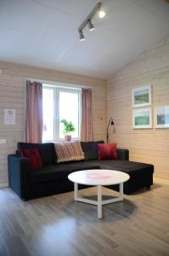
[[[129,161],[127,149],[117,149],[118,160],[98,160],[98,143],[81,143],[85,160],[57,164],[54,143],[18,143],[17,154],[8,155],[9,187],[23,200],[54,195],[73,190],[68,180],[71,172],[87,169],[114,169],[127,172],[130,179],[124,183],[124,193],[130,194],[153,184],[154,166]],[[30,160],[20,156],[22,148],[38,148],[43,167],[31,171]],[[87,186],[80,185],[80,189]],[[118,186],[109,186],[118,190]]]

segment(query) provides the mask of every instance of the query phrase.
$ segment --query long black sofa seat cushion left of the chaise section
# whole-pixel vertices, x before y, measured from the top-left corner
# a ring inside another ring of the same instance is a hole
[[[31,173],[31,183],[48,183],[54,180],[67,179],[71,172],[97,168],[99,168],[99,165],[84,161],[43,166],[42,169]]]

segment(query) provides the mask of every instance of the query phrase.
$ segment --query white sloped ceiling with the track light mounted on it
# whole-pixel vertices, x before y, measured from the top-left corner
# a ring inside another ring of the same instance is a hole
[[[78,26],[99,0],[0,0],[0,60],[109,78],[169,36],[169,3],[102,1],[95,30]]]

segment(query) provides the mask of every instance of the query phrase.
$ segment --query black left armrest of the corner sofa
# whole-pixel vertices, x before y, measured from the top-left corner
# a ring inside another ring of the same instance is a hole
[[[8,184],[23,200],[31,198],[30,160],[19,154],[8,155]]]

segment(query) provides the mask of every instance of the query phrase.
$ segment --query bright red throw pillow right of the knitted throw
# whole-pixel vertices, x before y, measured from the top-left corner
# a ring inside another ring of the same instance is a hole
[[[116,143],[98,144],[99,160],[117,159]]]

